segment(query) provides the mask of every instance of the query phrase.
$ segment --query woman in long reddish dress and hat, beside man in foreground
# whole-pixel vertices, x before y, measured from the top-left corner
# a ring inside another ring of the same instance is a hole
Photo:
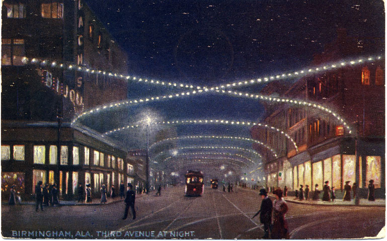
[[[285,219],[285,214],[289,210],[286,202],[282,199],[283,192],[280,188],[274,190],[276,196],[273,206],[273,229],[271,232],[272,239],[289,238],[288,224]]]

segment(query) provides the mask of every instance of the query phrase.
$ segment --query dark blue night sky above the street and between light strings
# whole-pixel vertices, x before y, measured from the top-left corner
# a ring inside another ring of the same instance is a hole
[[[345,28],[349,36],[360,39],[384,39],[382,1],[86,2],[127,51],[130,75],[191,85],[220,85],[303,68],[311,64],[313,54],[322,52],[324,45],[337,37],[338,28]],[[283,84],[291,82],[288,79]],[[138,83],[129,83],[128,87],[129,99],[177,92]],[[257,93],[262,87],[239,90]],[[109,123],[110,129],[133,122],[143,108],[162,120],[258,121],[263,115],[258,101],[208,94],[117,112],[122,115],[122,122],[113,123],[117,126]],[[246,127],[184,125],[176,130],[178,135],[250,137]],[[144,147],[142,132],[115,137],[125,138],[130,147]]]

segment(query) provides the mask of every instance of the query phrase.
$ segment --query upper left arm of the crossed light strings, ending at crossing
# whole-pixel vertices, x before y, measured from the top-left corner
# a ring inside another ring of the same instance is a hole
[[[76,64],[66,64],[66,63],[57,63],[56,61],[51,61],[47,59],[39,59],[39,58],[32,58],[31,60],[27,57],[22,58],[22,62],[24,64],[40,64],[43,66],[50,66],[50,67],[56,67],[56,68],[62,68],[62,69],[69,69],[69,70],[76,70],[80,72],[85,72],[89,74],[96,74],[101,76],[109,76],[114,77],[117,79],[122,79],[125,82],[134,82],[134,83],[145,83],[155,86],[167,86],[172,88],[185,88],[185,89],[203,89],[205,87],[200,86],[193,86],[190,84],[183,84],[183,83],[177,83],[177,82],[168,82],[168,81],[158,81],[146,77],[137,77],[133,75],[123,74],[123,73],[114,73],[109,72],[101,69],[95,69],[95,68],[89,68],[83,65],[76,65]]]

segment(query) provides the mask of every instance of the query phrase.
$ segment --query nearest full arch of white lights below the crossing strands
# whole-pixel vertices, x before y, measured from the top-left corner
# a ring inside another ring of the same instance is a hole
[[[159,121],[150,123],[150,125],[174,125],[174,124],[223,124],[223,125],[240,125],[240,126],[254,126],[258,125],[263,128],[267,128],[269,130],[277,131],[279,134],[284,135],[291,143],[293,143],[296,151],[298,152],[298,146],[293,138],[290,137],[286,132],[280,130],[274,126],[269,126],[267,124],[256,123],[252,121],[239,121],[239,120],[218,120],[218,119],[193,119],[193,120],[171,120],[171,121]],[[134,129],[139,127],[139,125],[127,125],[120,128],[116,128],[114,130],[110,130],[104,133],[104,135],[113,134],[118,131],[122,131],[125,129]]]

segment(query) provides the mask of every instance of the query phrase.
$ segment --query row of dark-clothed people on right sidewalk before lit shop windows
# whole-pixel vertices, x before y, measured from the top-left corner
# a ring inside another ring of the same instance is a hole
[[[356,185],[356,183],[354,183],[351,187],[349,185],[350,182],[351,181],[345,182],[345,185],[344,185],[345,193],[344,193],[343,201],[351,201],[351,190],[353,192],[353,198],[354,199],[356,198],[357,185]],[[374,186],[373,182],[374,182],[373,180],[369,180],[369,185],[368,185],[368,200],[369,201],[375,201],[375,186]],[[300,185],[299,190],[295,190],[295,199],[299,199],[300,201],[309,199],[309,186],[308,185],[305,185],[305,186],[306,186],[305,190],[303,189],[303,185]],[[286,186],[285,186],[285,189],[287,189]],[[319,190],[319,185],[316,184],[312,200],[315,200],[315,201],[319,200],[320,193],[321,193],[321,191]],[[335,201],[335,199],[336,199],[335,187],[330,187],[329,181],[325,181],[325,185],[323,187],[322,200],[330,202],[331,200]]]

